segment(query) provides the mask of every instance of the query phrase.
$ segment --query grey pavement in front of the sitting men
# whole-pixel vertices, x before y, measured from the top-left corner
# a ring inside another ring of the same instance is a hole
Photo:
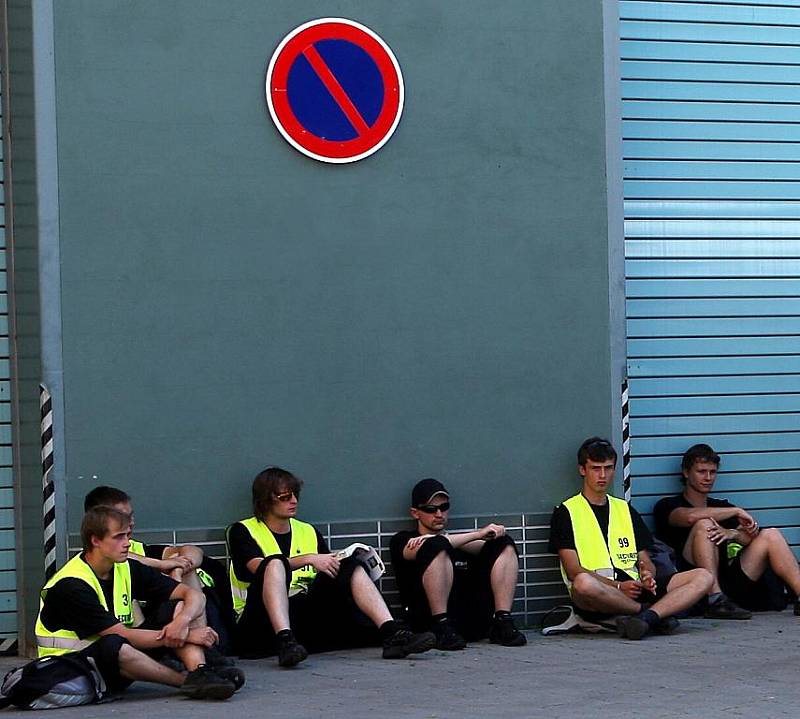
[[[402,661],[383,660],[378,649],[318,654],[288,670],[274,659],[243,661],[247,685],[227,702],[138,684],[120,701],[57,711],[81,719],[794,718],[798,639],[800,617],[791,611],[749,622],[686,620],[674,636],[640,642],[530,631],[522,648],[478,643]],[[57,716],[26,712],[42,714]]]

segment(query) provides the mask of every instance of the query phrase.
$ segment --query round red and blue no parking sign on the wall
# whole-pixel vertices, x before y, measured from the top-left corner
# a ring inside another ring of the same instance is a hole
[[[403,112],[403,76],[389,46],[352,20],[295,28],[267,69],[267,104],[286,141],[322,162],[355,162],[383,147]]]

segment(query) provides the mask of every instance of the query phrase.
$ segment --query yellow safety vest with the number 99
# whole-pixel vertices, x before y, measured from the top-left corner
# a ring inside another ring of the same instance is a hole
[[[586,497],[578,493],[564,502],[564,506],[572,521],[578,561],[584,569],[608,576],[609,579],[613,579],[614,569],[620,569],[633,579],[639,579],[639,553],[631,510],[626,501],[608,497],[608,543]],[[571,591],[572,583],[563,564],[561,576]]]

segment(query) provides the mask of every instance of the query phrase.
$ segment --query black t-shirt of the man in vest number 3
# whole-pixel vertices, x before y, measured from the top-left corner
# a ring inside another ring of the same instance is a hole
[[[135,560],[128,562],[131,568],[132,599],[160,604],[169,599],[178,583],[151,567]],[[51,632],[69,629],[81,639],[99,634],[104,629],[119,624],[113,612],[114,575],[100,579],[100,587],[109,609],[104,609],[92,589],[82,579],[65,577],[50,589],[42,606],[42,623]]]

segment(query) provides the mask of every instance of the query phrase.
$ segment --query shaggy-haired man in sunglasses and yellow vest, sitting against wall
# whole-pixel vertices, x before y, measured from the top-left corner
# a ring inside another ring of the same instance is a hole
[[[308,652],[383,643],[385,659],[432,649],[392,619],[357,556],[339,560],[323,536],[297,519],[303,483],[268,467],[253,481],[253,514],[228,528],[239,654],[278,654],[291,667]]]

